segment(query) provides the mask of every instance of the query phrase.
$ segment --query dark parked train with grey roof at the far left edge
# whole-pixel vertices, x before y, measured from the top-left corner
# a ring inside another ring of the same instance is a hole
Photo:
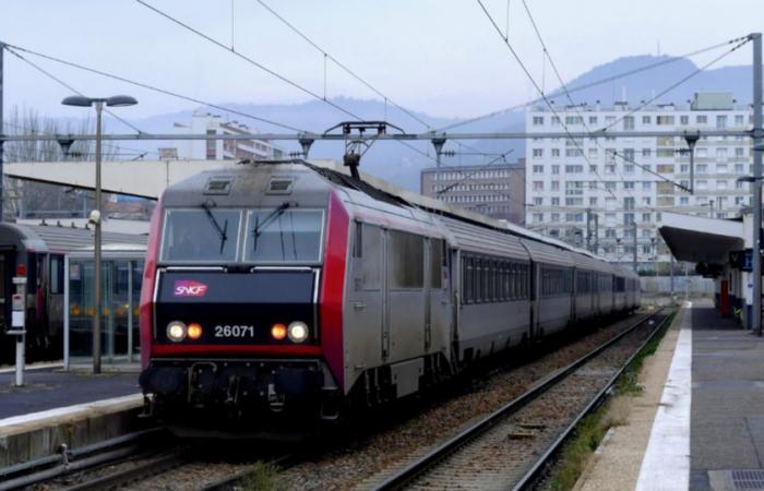
[[[60,360],[63,354],[64,258],[93,247],[93,229],[62,225],[0,224],[0,364],[15,362],[11,330],[14,276],[26,277],[26,361]],[[105,232],[104,247],[143,241]]]

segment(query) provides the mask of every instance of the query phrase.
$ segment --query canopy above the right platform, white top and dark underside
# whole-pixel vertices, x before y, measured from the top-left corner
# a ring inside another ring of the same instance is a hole
[[[733,219],[664,212],[658,230],[676,259],[694,263],[727,264],[745,242],[743,223]]]

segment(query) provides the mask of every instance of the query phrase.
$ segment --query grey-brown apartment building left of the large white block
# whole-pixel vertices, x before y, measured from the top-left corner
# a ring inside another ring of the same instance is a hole
[[[421,193],[497,219],[522,224],[525,159],[515,164],[423,169]]]

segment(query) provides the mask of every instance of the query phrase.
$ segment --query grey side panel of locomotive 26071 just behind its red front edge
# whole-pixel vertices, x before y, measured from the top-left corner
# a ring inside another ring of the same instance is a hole
[[[346,352],[358,370],[381,363],[386,355],[384,314],[384,237],[373,225],[355,223],[348,288]]]

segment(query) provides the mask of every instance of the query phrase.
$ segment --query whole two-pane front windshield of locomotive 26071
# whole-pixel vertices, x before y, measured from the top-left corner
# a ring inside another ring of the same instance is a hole
[[[323,211],[288,206],[168,209],[160,258],[168,263],[318,263],[323,224]]]

